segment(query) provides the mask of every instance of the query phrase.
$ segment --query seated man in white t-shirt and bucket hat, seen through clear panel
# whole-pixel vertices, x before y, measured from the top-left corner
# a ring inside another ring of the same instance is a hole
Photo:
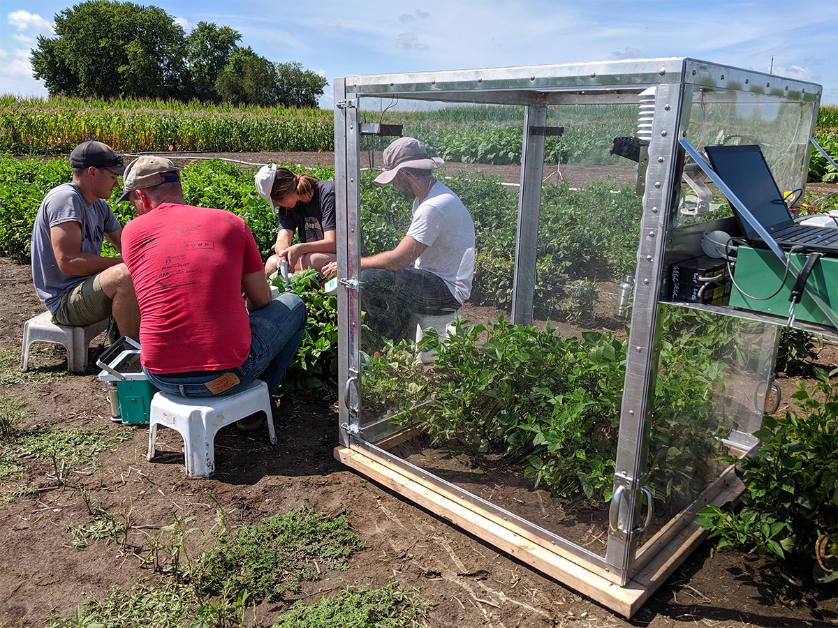
[[[414,315],[450,313],[471,294],[474,223],[457,194],[433,176],[443,163],[412,137],[385,149],[385,171],[375,183],[391,183],[415,200],[411,225],[396,248],[360,260],[366,322],[381,336],[411,338]],[[334,275],[334,265],[331,270]]]

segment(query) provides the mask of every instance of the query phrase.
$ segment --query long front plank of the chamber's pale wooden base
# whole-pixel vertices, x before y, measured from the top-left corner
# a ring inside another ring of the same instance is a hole
[[[337,446],[334,448],[334,457],[346,466],[360,471],[370,480],[409,498],[419,506],[427,508],[468,533],[491,543],[515,559],[529,564],[541,573],[549,575],[561,584],[597,601],[627,619],[647,597],[647,592],[641,584],[634,581],[629,581],[624,587],[614,584],[581,565],[563,559],[556,553],[530,542],[479,512],[474,512],[465,505],[402,476],[398,471],[373,461],[362,452]]]

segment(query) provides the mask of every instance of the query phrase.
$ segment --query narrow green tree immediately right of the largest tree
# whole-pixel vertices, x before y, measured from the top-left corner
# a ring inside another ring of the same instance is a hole
[[[241,33],[229,26],[199,22],[186,38],[186,63],[189,67],[192,96],[199,100],[220,100],[215,81],[230,61],[230,54]]]

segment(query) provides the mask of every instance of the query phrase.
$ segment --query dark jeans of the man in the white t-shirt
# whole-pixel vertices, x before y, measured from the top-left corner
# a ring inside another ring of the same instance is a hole
[[[361,272],[361,283],[367,325],[393,340],[413,337],[414,314],[446,314],[462,305],[445,281],[427,270],[368,268]]]

